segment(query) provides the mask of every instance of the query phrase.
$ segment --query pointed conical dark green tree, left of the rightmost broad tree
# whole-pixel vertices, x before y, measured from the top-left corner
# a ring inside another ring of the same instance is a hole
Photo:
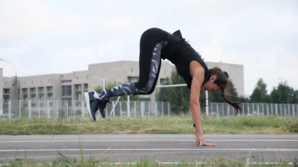
[[[270,96],[267,94],[267,84],[260,78],[250,95],[250,102],[252,103],[269,103]]]

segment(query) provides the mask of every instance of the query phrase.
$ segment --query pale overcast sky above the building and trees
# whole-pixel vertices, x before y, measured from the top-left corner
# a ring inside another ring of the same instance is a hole
[[[298,0],[0,0],[0,59],[18,76],[138,61],[150,27],[180,29],[205,61],[243,64],[245,94],[260,77],[268,93],[280,80],[298,89]]]

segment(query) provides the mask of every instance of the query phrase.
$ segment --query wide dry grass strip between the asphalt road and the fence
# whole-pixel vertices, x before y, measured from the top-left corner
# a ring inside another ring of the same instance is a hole
[[[298,117],[206,117],[204,134],[297,134]],[[34,134],[193,134],[191,116],[120,118],[0,119],[0,135]]]

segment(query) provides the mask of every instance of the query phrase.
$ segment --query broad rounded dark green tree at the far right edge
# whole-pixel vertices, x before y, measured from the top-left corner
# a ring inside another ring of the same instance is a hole
[[[294,88],[290,87],[287,81],[281,81],[276,88],[273,87],[270,97],[272,103],[298,103],[298,92],[297,90],[295,91]]]

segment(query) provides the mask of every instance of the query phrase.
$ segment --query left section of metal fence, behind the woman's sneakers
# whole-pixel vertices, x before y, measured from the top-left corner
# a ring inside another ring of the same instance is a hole
[[[107,104],[106,116],[120,117],[164,117],[171,115],[170,102],[155,102],[155,109],[150,102],[112,101]],[[114,107],[114,109],[113,109]],[[152,106],[151,106],[152,107]],[[127,109],[129,108],[129,110]],[[67,118],[89,117],[84,101],[67,100],[4,100],[3,113],[5,118]]]

